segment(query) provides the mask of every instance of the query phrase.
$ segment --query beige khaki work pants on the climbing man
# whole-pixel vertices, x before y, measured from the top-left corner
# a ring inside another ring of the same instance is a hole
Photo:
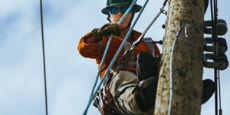
[[[136,74],[130,71],[121,70],[116,76],[114,76],[111,81],[108,83],[108,87],[113,96],[115,106],[118,108],[124,115],[153,115],[154,108],[150,109],[147,112],[143,112],[138,105],[136,98],[138,91],[135,89],[135,84],[139,82]],[[130,84],[133,84],[130,86]],[[119,96],[116,95],[119,88],[128,86],[124,92]],[[122,103],[122,104],[120,104]],[[123,106],[123,107],[122,107]]]

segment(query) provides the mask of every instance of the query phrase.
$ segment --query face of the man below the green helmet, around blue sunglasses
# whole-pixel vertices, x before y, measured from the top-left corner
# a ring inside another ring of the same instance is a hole
[[[127,5],[115,5],[115,6],[112,6],[110,8],[113,8],[113,7],[123,7],[123,6],[127,6]],[[128,6],[127,6],[128,7]],[[109,8],[109,9],[110,9]],[[121,19],[121,17],[123,16],[124,14],[121,12],[121,10],[119,10],[119,12],[117,14],[110,14],[110,19],[113,23],[118,23],[119,20]],[[132,17],[132,13],[128,13],[125,17],[125,19],[121,22],[120,24],[120,27],[121,29],[123,28],[126,28],[127,25],[129,24],[130,20],[131,20],[131,17]]]

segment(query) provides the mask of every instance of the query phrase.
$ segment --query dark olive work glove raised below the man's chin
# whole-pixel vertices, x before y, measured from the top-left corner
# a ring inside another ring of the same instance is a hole
[[[101,28],[92,30],[92,33],[97,41],[102,40],[104,36],[109,36],[113,33],[115,36],[119,36],[121,28],[117,23],[107,23]]]

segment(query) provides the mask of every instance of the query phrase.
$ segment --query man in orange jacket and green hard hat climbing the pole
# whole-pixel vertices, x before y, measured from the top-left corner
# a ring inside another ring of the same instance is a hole
[[[117,23],[132,2],[133,0],[107,0],[107,6],[102,9],[102,13],[108,16],[110,23],[93,29],[79,42],[79,53],[83,57],[95,59],[100,66],[109,35],[114,34],[105,63],[99,70],[101,78],[129,31],[134,14],[141,9],[140,5],[135,4],[118,25]],[[102,92],[99,92],[99,100],[96,100],[102,115],[153,115],[160,62],[154,57],[161,56],[157,45],[155,43],[147,45],[147,41],[152,41],[152,39],[145,38],[140,41],[138,47],[133,49],[133,56],[127,63],[122,66],[119,63],[125,51],[130,49],[133,42],[140,36],[140,32],[132,30],[110,69],[110,74],[106,76],[103,83],[105,87]]]

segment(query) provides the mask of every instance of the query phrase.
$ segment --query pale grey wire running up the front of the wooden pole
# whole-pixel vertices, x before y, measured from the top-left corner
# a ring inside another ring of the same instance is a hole
[[[171,56],[170,56],[170,98],[169,98],[169,108],[168,108],[168,115],[171,114],[171,107],[172,107],[172,93],[173,93],[173,79],[172,79],[172,58],[173,58],[173,50],[174,50],[174,47],[175,47],[175,44],[176,44],[176,41],[177,41],[177,38],[179,36],[179,34],[181,33],[181,23],[182,22],[186,22],[186,27],[185,27],[185,38],[187,39],[188,38],[188,34],[187,34],[187,28],[188,28],[188,22],[186,20],[182,20],[180,21],[179,23],[179,30],[176,34],[176,37],[175,37],[175,40],[174,40],[174,43],[173,43],[173,46],[172,46],[172,51],[171,51]]]

